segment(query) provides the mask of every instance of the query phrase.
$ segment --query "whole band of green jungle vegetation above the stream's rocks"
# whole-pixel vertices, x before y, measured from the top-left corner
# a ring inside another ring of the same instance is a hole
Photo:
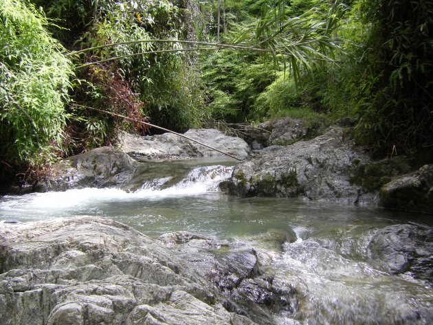
[[[151,122],[351,120],[377,157],[433,150],[430,0],[0,0],[0,179]],[[431,162],[431,161],[430,161]]]

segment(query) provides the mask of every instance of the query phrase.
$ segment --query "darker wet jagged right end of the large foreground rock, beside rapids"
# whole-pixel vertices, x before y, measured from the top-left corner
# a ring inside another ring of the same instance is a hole
[[[186,232],[166,234],[159,240],[229,298],[223,303],[228,311],[254,314],[254,321],[258,324],[274,324],[280,313],[287,317],[296,312],[296,290],[273,282],[273,275],[261,268],[265,260],[260,259],[257,251],[249,245],[197,238]]]

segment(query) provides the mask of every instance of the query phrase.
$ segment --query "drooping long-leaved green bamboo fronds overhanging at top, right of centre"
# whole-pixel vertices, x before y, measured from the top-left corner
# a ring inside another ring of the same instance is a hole
[[[299,80],[303,71],[332,60],[333,51],[338,49],[333,31],[342,8],[333,5],[327,12],[311,8],[292,17],[285,0],[267,1],[257,23],[245,28],[235,43],[270,49],[274,63],[287,65],[291,76]]]

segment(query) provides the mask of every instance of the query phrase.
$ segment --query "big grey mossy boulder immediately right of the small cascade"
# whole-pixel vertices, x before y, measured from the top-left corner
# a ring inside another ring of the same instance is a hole
[[[263,152],[238,164],[228,192],[241,197],[307,197],[366,205],[373,193],[351,183],[359,165],[370,161],[334,127],[309,141]]]

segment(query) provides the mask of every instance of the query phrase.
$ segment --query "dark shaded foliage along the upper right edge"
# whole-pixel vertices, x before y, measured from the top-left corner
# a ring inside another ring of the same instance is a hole
[[[357,139],[377,153],[433,142],[432,1],[361,1],[373,19],[363,56]]]

